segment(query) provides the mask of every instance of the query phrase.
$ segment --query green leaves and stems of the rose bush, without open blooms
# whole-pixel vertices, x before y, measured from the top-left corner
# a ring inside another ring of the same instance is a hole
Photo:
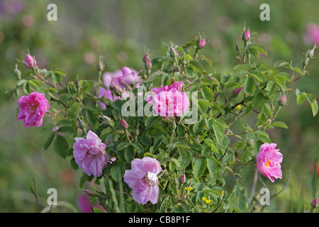
[[[99,89],[105,88],[101,82],[103,67],[98,68],[96,80],[78,76],[74,81],[63,82],[69,74],[65,70],[33,67],[21,73],[16,66],[16,85],[6,95],[10,98],[36,91],[47,96],[51,106],[45,116],[51,123],[40,129],[45,134],[43,148],[52,147],[64,159],[71,157],[74,170],[79,169],[72,157],[74,138],[85,137],[91,130],[106,143],[106,153],[113,162],[99,177],[83,173],[79,187],[85,182],[103,184],[105,190],[96,189],[90,196],[99,198],[108,212],[250,211],[251,201],[247,201],[240,184],[240,172],[255,165],[260,145],[276,143],[269,138],[267,129],[288,127],[276,120],[286,97],[295,94],[298,104],[308,101],[313,116],[318,113],[313,94],[291,88],[291,84],[307,76],[306,66],[313,57],[310,51],[315,47],[308,50],[301,67],[281,60],[268,68],[254,62],[268,52],[250,37],[237,43],[239,63],[228,71],[216,72],[210,57],[201,55],[201,38],[199,34],[185,45],[168,43],[166,55],[151,57],[150,50],[145,50],[151,64],[146,63],[140,73],[144,92],[184,82],[183,91],[191,93],[191,113],[197,116],[194,123],[186,123],[187,113],[165,118],[138,116],[136,110],[135,116],[123,116],[122,106],[127,100],[112,102],[98,96]],[[101,65],[101,60],[97,65]],[[133,94],[137,96],[138,89]],[[98,101],[107,108],[101,109]],[[146,105],[144,101],[143,106]],[[248,121],[252,118],[253,125]],[[122,120],[128,128],[121,127]],[[238,124],[241,131],[237,132],[234,130]],[[55,127],[58,129],[53,130]],[[157,204],[137,204],[131,196],[132,189],[123,181],[132,160],[142,157],[153,157],[162,167]],[[230,190],[225,185],[228,175],[235,180]]]

